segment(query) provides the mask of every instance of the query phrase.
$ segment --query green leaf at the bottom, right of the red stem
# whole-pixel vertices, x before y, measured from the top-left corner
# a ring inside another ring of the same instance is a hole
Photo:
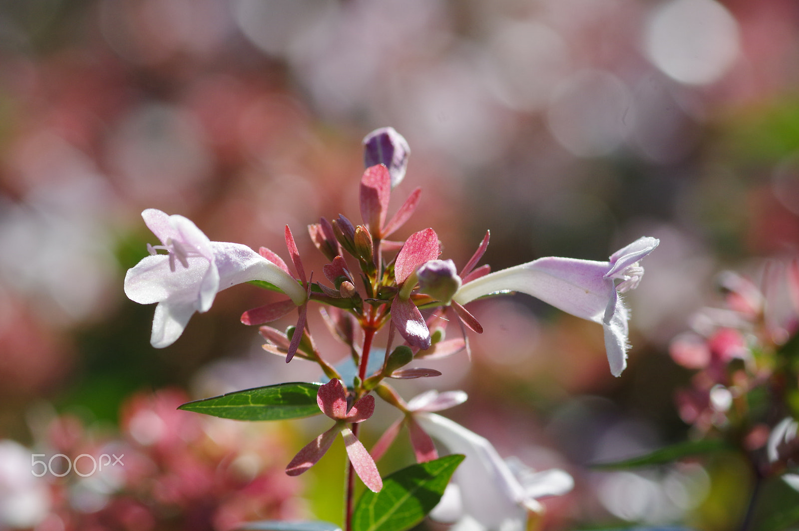
[[[383,480],[379,493],[364,492],[352,515],[352,531],[405,531],[422,521],[441,500],[464,456],[408,466]]]

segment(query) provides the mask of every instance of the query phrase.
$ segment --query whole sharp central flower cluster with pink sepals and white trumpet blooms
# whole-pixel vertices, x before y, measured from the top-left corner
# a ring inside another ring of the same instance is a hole
[[[407,367],[415,360],[440,358],[468,351],[468,335],[483,328],[465,306],[475,299],[497,293],[520,291],[572,315],[599,323],[604,329],[610,371],[618,376],[626,367],[628,311],[620,293],[638,286],[643,268],[640,260],[658,246],[658,240],[642,237],[614,252],[607,261],[546,257],[502,271],[478,267],[489,234],[470,260],[458,271],[451,259],[442,258],[439,236],[433,228],[413,232],[404,240],[389,240],[410,220],[419,204],[416,188],[389,216],[389,200],[406,171],[407,142],[394,129],[378,129],[364,139],[366,170],[360,180],[361,223],[346,216],[321,218],[308,227],[316,248],[326,257],[324,279],[306,275],[305,267],[288,226],[285,240],[293,272],[276,252],[259,252],[240,244],[212,242],[189,220],[145,210],[145,223],[161,240],[148,246],[146,257],[125,277],[125,293],[138,303],[158,303],[153,319],[153,347],[165,347],[181,335],[194,311],[207,311],[217,291],[237,283],[252,282],[282,291],[288,299],[245,311],[244,324],[259,326],[266,339],[264,349],[282,355],[286,362],[301,357],[318,363],[329,378],[319,386],[316,405],[335,424],[305,446],[288,464],[289,475],[302,474],[328,450],[336,434],[342,434],[352,470],[372,491],[383,481],[375,458],[386,450],[402,425],[408,427],[418,462],[437,458],[439,442],[452,452],[467,455],[463,474],[468,481],[492,478],[496,496],[511,507],[505,517],[523,527],[526,509],[540,510],[536,497],[570,489],[565,473],[552,473],[553,485],[539,476],[519,480],[499,459],[487,440],[432,414],[466,399],[459,391],[428,394],[404,402],[387,378],[434,377],[424,367]],[[165,252],[159,254],[158,252]],[[326,280],[326,282],[325,282]],[[308,304],[320,303],[329,329],[347,345],[356,376],[346,381],[325,359],[308,330]],[[268,323],[298,310],[296,326],[282,332]],[[463,338],[443,339],[444,314],[459,323]],[[388,328],[385,356],[376,370],[370,365],[376,333]],[[432,329],[432,331],[431,331]],[[396,339],[396,335],[400,339]],[[395,348],[394,343],[402,342]],[[372,391],[403,414],[400,422],[369,454],[358,441],[358,423],[372,415]],[[516,467],[519,469],[519,467]],[[554,475],[553,475],[554,474]],[[531,478],[536,478],[535,480]],[[542,482],[543,481],[543,482]],[[464,496],[473,487],[461,486]],[[494,495],[494,494],[492,494]],[[498,506],[500,506],[499,504]],[[473,515],[487,529],[499,529],[500,521]],[[505,529],[505,527],[503,527]]]

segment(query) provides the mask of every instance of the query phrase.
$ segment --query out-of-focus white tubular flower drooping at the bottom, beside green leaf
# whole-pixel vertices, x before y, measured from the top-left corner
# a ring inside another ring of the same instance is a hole
[[[535,473],[516,458],[503,460],[486,438],[448,418],[419,413],[415,420],[451,453],[466,456],[454,479],[465,513],[456,524],[459,528],[523,531],[527,511],[543,510],[537,498],[564,494],[574,486],[563,470]]]

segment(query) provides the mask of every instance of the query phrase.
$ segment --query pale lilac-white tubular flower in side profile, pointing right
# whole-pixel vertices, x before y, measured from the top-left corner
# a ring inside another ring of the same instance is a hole
[[[463,284],[453,299],[466,304],[497,291],[521,291],[582,319],[602,324],[614,376],[627,366],[627,308],[618,293],[638,286],[644,274],[638,260],[660,240],[644,236],[610,256],[607,262],[548,256],[508,267]],[[618,285],[615,279],[621,280]]]

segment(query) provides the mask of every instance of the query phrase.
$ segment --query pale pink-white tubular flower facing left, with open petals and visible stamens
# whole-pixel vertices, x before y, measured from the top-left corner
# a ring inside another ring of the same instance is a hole
[[[306,291],[280,267],[246,245],[213,242],[183,216],[148,208],[141,212],[161,245],[147,245],[146,256],[125,275],[125,295],[140,304],[158,303],[153,317],[153,347],[169,347],[195,311],[209,311],[219,291],[250,280],[272,283],[297,305]],[[156,254],[157,250],[167,254]]]

